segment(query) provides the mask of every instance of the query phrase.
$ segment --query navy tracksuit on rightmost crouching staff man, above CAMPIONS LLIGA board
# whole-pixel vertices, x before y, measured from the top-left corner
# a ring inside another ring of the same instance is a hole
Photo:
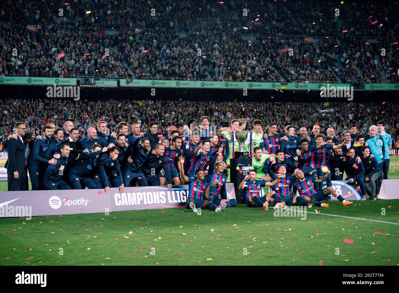
[[[148,185],[151,184],[151,186],[158,186],[160,175],[166,178],[166,184],[172,184],[169,163],[165,155],[157,157],[157,155],[150,153],[141,170],[147,180]]]

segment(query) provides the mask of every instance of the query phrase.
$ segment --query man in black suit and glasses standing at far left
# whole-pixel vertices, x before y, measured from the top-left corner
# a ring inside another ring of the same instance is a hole
[[[26,132],[24,122],[15,124],[17,139],[8,141],[8,160],[4,167],[7,168],[8,191],[25,190],[25,142],[22,138]]]

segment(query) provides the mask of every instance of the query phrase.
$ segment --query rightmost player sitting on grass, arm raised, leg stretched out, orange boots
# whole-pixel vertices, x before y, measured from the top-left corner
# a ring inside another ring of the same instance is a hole
[[[315,170],[312,172],[316,172]],[[312,173],[311,172],[311,173]],[[352,205],[352,201],[346,201],[342,196],[337,195],[335,190],[329,186],[325,187],[322,190],[315,191],[313,188],[313,180],[311,177],[305,177],[304,173],[300,169],[296,169],[294,172],[298,181],[294,183],[296,188],[298,189],[299,194],[303,197],[304,200],[300,201],[301,205],[307,205],[308,208],[311,208],[314,205],[322,206],[324,208],[328,208],[328,203],[320,203],[320,201],[326,201],[328,199],[329,193],[331,193],[334,197],[336,197],[342,205],[349,206]],[[314,183],[324,182],[327,179],[328,174],[330,174],[329,170],[326,170],[324,176],[322,178],[314,179]],[[312,174],[310,174],[312,175]]]

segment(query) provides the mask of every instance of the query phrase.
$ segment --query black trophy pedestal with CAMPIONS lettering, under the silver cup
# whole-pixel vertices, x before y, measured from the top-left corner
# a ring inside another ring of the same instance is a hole
[[[244,152],[247,153],[248,152]],[[239,190],[238,187],[243,181],[245,175],[249,174],[249,170],[252,169],[252,159],[249,155],[244,155],[236,151],[234,153],[234,159],[230,160],[230,182],[234,183],[234,193],[237,203],[245,204],[247,199],[245,197],[245,190]]]

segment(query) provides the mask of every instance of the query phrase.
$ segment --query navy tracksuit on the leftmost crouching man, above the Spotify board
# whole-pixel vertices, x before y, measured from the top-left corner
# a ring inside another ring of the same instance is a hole
[[[71,187],[62,180],[63,173],[67,171],[68,158],[61,157],[57,159],[57,164],[50,164],[43,178],[43,185],[46,190],[61,190],[71,189]],[[59,170],[61,166],[64,166],[63,170]]]

